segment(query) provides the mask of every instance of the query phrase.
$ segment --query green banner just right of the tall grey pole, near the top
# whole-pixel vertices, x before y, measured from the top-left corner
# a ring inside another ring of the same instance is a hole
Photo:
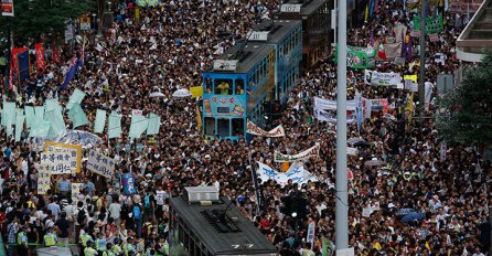
[[[339,45],[335,47],[335,63],[338,56]],[[374,67],[377,51],[373,47],[356,47],[356,46],[347,46],[346,49],[346,66],[352,68],[372,68]]]

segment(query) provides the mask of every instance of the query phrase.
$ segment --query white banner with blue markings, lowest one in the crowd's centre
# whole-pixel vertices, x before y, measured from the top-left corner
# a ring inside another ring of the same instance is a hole
[[[307,171],[301,162],[292,163],[287,172],[278,172],[265,163],[257,163],[259,166],[257,173],[258,178],[261,180],[261,183],[265,183],[268,180],[274,180],[281,186],[285,186],[288,184],[289,180],[292,180],[292,183],[298,183],[300,185],[308,183],[308,181],[318,181],[318,178]]]

